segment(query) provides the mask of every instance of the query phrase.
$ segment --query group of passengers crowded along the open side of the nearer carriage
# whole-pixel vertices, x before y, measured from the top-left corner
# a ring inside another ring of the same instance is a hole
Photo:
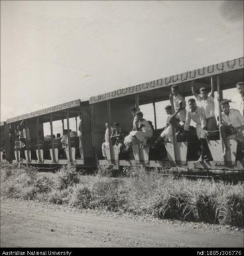
[[[194,82],[192,82],[192,94],[195,98],[190,98],[187,104],[184,96],[179,92],[178,85],[172,86],[169,96],[170,105],[165,107],[166,126],[151,145],[151,148],[156,148],[159,142],[172,143],[173,130],[176,133],[177,141],[188,141],[192,136],[190,124],[194,122],[196,124],[196,136],[200,141],[199,162],[211,159],[207,139],[217,132],[220,132],[223,141],[223,157],[225,159],[230,150],[227,140],[230,135],[235,135],[238,149],[243,154],[243,82],[237,82],[236,90],[237,93],[233,98],[221,100],[221,115],[216,118],[213,84],[210,92],[206,87],[201,87],[200,94],[197,94]],[[143,112],[133,106],[131,113],[133,115],[133,129],[127,136],[124,136],[117,122],[110,128],[110,132],[109,124],[105,124],[105,141],[102,144],[102,154],[105,159],[107,158],[105,148],[109,146],[110,142],[112,144],[119,143],[121,146],[125,146],[126,150],[129,150],[134,143],[138,142],[141,147],[147,146],[149,139],[153,137],[153,124],[143,118]],[[219,125],[217,125],[217,120],[220,122]],[[110,138],[109,134],[111,134]]]

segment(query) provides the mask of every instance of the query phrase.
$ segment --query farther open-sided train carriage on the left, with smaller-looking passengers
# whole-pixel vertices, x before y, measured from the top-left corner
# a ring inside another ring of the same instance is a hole
[[[78,124],[81,113],[82,140],[78,136]],[[63,130],[70,130],[70,118],[75,118],[76,131],[74,136],[67,134],[67,143],[62,144],[60,138],[55,138],[53,122],[60,120],[60,134]],[[23,126],[24,124],[24,126]],[[44,136],[44,125],[50,125],[49,136]],[[17,128],[25,128],[24,146],[21,148],[21,139],[17,138]],[[66,127],[66,129],[64,129]],[[91,146],[91,115],[88,101],[73,100],[43,110],[7,119],[7,144],[9,162],[41,165],[93,165],[93,148]],[[13,154],[14,152],[14,154]]]

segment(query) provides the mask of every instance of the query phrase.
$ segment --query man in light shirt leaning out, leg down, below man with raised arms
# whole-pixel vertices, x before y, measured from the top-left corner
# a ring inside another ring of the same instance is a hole
[[[196,134],[201,144],[201,156],[198,159],[198,162],[202,162],[205,158],[211,158],[208,143],[206,141],[206,116],[204,115],[204,111],[202,110],[202,108],[200,108],[200,106],[196,106],[196,100],[194,100],[194,98],[190,98],[188,100],[188,106],[189,109],[186,111],[186,123],[184,125],[184,133],[186,133],[186,136],[190,136],[190,122],[191,120],[196,122]]]

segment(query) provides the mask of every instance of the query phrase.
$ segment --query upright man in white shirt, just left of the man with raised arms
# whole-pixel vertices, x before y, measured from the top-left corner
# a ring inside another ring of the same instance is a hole
[[[174,106],[174,111],[178,112],[178,117],[180,118],[181,122],[186,121],[186,100],[184,96],[179,94],[179,88],[178,85],[171,86],[171,92],[170,92],[170,104]]]

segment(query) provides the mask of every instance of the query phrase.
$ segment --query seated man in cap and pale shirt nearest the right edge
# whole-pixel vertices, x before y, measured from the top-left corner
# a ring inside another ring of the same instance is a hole
[[[226,156],[226,152],[229,151],[229,144],[227,143],[227,136],[231,134],[237,135],[237,140],[243,143],[243,117],[237,109],[229,108],[229,100],[222,100],[221,106],[221,118],[222,124],[220,126],[221,138],[223,140],[224,151],[223,156]]]

